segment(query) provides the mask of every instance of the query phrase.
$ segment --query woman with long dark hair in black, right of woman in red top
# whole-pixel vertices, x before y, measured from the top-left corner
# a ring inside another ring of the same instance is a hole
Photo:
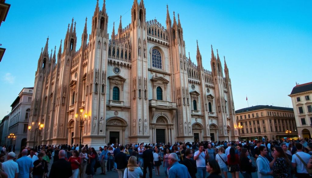
[[[244,178],[251,178],[251,160],[247,157],[248,150],[247,148],[241,149],[240,160],[240,171]]]

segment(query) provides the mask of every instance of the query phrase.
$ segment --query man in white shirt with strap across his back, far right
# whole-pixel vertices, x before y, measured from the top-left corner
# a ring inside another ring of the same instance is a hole
[[[297,148],[297,153],[293,154],[291,163],[294,168],[297,168],[297,177],[310,177],[305,165],[308,164],[311,156],[308,153],[302,151],[303,146],[301,143],[295,143],[295,146]],[[305,162],[305,164],[303,162]]]

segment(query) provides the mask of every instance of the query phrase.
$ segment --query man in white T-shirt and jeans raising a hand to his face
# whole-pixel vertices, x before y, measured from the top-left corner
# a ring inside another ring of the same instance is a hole
[[[207,150],[204,150],[204,145],[199,144],[199,149],[194,154],[194,160],[196,161],[197,174],[199,178],[206,178],[206,160],[209,159]]]

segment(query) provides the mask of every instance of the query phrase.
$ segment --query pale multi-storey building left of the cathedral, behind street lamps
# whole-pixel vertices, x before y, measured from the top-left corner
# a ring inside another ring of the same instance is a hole
[[[26,146],[33,90],[33,87],[23,88],[11,105],[7,134],[14,133],[16,138],[7,139],[7,145],[13,146],[15,144],[15,150],[20,150],[22,146]]]

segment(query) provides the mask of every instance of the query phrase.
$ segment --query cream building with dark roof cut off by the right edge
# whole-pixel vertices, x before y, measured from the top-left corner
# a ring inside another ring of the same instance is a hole
[[[312,135],[312,82],[296,84],[290,95],[300,138]]]

